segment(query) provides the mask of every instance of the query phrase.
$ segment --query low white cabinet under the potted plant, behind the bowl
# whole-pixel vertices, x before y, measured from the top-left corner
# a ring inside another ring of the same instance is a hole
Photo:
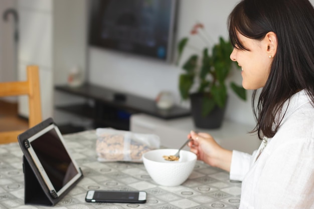
[[[161,138],[161,144],[179,148],[191,130],[210,133],[224,148],[252,153],[260,145],[256,134],[249,134],[253,127],[225,120],[219,129],[200,129],[194,126],[191,117],[164,120],[146,114],[133,114],[130,130],[137,133],[152,133]],[[188,147],[185,147],[188,149]]]

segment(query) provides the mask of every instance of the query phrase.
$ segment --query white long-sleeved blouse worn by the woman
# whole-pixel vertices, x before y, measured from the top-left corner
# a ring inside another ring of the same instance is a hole
[[[291,97],[280,128],[265,141],[252,155],[233,151],[239,209],[314,208],[314,108],[304,90]]]

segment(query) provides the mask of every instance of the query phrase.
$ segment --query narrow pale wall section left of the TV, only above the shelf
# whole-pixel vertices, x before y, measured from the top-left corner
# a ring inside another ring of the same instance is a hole
[[[73,67],[85,72],[86,0],[54,0],[53,8],[54,84],[62,84]]]

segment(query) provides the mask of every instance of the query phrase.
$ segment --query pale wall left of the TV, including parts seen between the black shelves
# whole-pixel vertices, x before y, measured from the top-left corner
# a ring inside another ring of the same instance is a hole
[[[54,84],[66,84],[68,75],[78,67],[85,77],[87,54],[87,1],[89,0],[52,0],[54,6]],[[66,105],[85,102],[84,98],[54,91],[54,105]],[[58,124],[90,124],[65,111],[54,109],[53,118]]]

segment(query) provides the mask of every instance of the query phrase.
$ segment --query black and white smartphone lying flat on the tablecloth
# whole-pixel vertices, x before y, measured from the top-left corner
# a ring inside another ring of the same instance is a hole
[[[120,202],[120,203],[145,203],[145,191],[111,191],[88,190],[85,201],[87,202]]]

